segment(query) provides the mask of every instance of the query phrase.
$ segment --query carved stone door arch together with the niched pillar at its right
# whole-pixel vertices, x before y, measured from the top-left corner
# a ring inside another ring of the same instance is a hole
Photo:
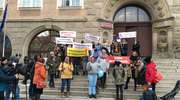
[[[145,8],[152,18],[153,54],[168,53],[167,57],[172,57],[174,18],[166,0],[106,0],[106,2],[103,18],[111,21],[116,11],[123,6],[135,4]],[[166,35],[162,35],[162,32],[166,32]]]

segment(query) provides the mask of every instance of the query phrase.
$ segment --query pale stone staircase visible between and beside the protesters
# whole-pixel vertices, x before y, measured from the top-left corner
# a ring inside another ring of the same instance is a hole
[[[158,71],[160,71],[164,80],[157,84],[157,95],[162,96],[171,91],[177,80],[180,80],[180,60],[172,59],[156,59]],[[41,96],[43,100],[86,100],[88,99],[88,82],[87,76],[74,76],[71,83],[71,96],[70,98],[60,97],[60,79],[55,81],[56,88],[46,88]],[[25,86],[20,84],[21,98],[25,98]],[[129,89],[124,91],[124,100],[139,100],[142,95],[142,88],[138,87],[137,91],[133,91],[133,81],[129,84]],[[99,91],[98,100],[114,100],[115,86],[111,74],[107,79],[107,88]],[[77,99],[75,99],[77,98]],[[176,96],[175,100],[180,100],[180,93]]]

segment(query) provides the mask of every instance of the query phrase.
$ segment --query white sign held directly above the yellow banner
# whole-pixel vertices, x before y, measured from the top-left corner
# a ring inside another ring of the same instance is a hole
[[[73,48],[92,50],[92,43],[73,43]]]

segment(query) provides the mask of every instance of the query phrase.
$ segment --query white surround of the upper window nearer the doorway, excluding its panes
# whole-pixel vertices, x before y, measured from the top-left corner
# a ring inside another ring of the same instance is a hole
[[[69,0],[69,6],[63,6],[62,0],[57,0],[57,9],[84,9],[84,0],[79,0],[79,6],[73,6],[72,0]]]

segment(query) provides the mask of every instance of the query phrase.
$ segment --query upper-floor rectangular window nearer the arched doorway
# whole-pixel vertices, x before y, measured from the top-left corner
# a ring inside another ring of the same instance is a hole
[[[83,8],[84,0],[58,0],[58,8]]]

